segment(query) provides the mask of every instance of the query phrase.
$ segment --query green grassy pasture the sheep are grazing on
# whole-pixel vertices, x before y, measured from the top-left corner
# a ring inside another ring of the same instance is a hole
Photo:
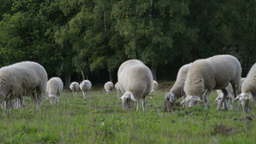
[[[123,111],[116,90],[107,95],[103,84],[92,89],[88,100],[81,91],[76,97],[66,91],[59,104],[46,100],[39,110],[26,97],[26,108],[0,110],[0,143],[256,143],[255,107],[250,114],[217,111],[212,92],[208,110],[164,112],[172,84],[161,83],[148,95],[146,112],[142,107],[136,112],[136,106]]]

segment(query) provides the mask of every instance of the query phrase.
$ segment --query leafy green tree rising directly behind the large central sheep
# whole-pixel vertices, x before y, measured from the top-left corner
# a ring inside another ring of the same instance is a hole
[[[196,30],[186,26],[184,20],[188,8],[186,2],[165,0],[121,0],[113,7],[116,32],[125,38],[125,54],[150,65],[154,79],[157,66],[166,65],[179,55],[173,47],[174,37],[195,37]],[[188,53],[189,48],[183,49]]]

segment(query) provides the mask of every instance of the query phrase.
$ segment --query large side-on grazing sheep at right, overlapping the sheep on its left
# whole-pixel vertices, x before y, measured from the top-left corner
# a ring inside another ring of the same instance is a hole
[[[224,99],[220,101],[218,110],[225,103],[228,92],[225,89],[228,84],[232,84],[233,93],[236,97],[236,90],[241,81],[241,64],[232,55],[215,55],[207,59],[195,60],[189,67],[189,72],[185,80],[184,91],[187,97],[181,102],[185,107],[194,107],[196,102],[201,101],[201,95],[206,92],[205,106],[207,107],[208,96],[212,89],[221,89],[224,92]],[[238,106],[236,105],[238,110]]]

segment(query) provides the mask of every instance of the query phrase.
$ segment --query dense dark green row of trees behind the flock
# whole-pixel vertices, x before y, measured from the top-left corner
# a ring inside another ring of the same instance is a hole
[[[0,66],[37,61],[66,85],[116,81],[128,59],[158,79],[212,55],[235,55],[243,76],[256,61],[255,0],[0,0],[0,16]]]

